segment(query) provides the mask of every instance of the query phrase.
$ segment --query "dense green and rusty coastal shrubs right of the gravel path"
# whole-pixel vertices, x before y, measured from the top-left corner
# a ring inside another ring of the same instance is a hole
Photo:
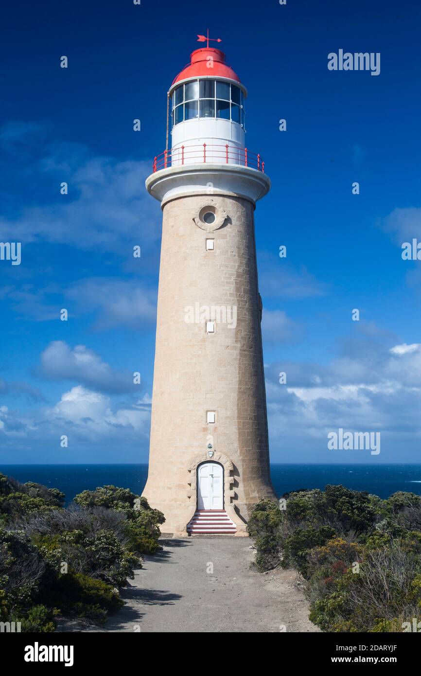
[[[256,564],[301,573],[322,631],[411,631],[421,621],[420,496],[326,486],[284,499],[285,510],[259,503],[251,515]]]

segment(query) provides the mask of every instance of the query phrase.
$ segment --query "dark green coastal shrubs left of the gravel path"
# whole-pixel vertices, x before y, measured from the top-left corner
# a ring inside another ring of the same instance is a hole
[[[64,494],[0,474],[0,619],[55,631],[57,614],[103,623],[124,602],[116,587],[159,548],[162,512],[129,489]]]

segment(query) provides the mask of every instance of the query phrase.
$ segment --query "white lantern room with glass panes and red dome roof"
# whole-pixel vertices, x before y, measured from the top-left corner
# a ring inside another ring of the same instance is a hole
[[[168,95],[172,166],[244,164],[247,90],[220,49],[193,51]]]

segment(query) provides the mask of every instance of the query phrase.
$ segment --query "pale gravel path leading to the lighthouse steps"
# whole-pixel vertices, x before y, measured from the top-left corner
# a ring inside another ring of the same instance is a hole
[[[296,573],[249,569],[254,557],[248,537],[161,542],[164,551],[147,557],[122,591],[126,606],[100,631],[278,632],[281,625],[319,631],[307,619]]]

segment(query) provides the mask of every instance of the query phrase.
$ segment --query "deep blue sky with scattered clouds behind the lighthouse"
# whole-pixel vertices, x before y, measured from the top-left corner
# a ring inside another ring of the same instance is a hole
[[[208,26],[272,179],[256,211],[272,461],[418,462],[421,261],[401,244],[421,241],[420,7],[72,0],[2,18],[0,241],[22,263],[0,261],[0,462],[147,461],[161,214],[144,180]],[[380,75],[328,70],[339,49],[380,52]],[[380,431],[380,454],[328,450],[340,427]]]

